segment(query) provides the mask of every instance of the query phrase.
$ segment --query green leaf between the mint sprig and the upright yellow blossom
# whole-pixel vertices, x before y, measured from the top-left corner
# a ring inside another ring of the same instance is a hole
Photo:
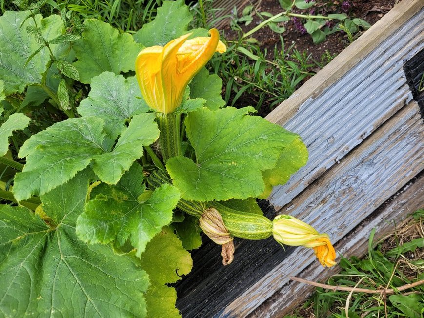
[[[97,19],[85,20],[82,38],[72,47],[78,59],[74,66],[80,73],[81,83],[85,84],[104,71],[119,74],[134,70],[142,48],[129,33],[119,34],[109,23]]]

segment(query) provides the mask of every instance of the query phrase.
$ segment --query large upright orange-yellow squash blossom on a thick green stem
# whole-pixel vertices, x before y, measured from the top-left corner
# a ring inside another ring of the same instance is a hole
[[[226,51],[217,29],[210,37],[187,40],[191,33],[170,41],[164,47],[147,47],[136,59],[136,76],[147,105],[164,114],[177,108],[188,82],[212,58]]]

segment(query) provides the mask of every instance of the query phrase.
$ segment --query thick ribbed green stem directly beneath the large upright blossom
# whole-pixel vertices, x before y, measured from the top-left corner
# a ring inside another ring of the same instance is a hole
[[[157,115],[159,130],[159,147],[163,161],[181,155],[180,124],[181,114],[169,113]]]

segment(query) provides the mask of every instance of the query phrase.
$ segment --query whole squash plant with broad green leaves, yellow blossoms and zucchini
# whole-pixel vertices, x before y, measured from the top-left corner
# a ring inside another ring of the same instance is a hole
[[[37,14],[45,2],[0,17],[0,161],[20,171],[0,191],[18,203],[0,207],[2,317],[179,316],[165,284],[190,272],[200,229],[224,264],[233,237],[271,235],[334,264],[328,235],[256,204],[307,151],[252,107],[222,108],[222,80],[204,68],[226,49],[217,30],[188,32],[178,0],[133,36],[96,19],[78,35],[66,15]],[[7,145],[30,122],[27,99],[69,118],[23,143],[22,166]]]

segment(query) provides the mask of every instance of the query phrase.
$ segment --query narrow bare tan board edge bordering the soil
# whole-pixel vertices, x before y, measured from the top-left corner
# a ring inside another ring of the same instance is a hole
[[[423,7],[424,1],[422,0],[404,0],[398,3],[265,118],[273,123],[283,125],[307,99],[318,97],[326,87],[339,80]]]

